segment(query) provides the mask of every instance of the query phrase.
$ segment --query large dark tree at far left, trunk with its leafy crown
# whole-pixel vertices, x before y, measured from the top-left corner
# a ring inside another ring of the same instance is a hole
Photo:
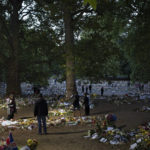
[[[32,0],[0,1],[0,7],[1,78],[8,94],[21,94],[21,82],[45,83],[58,53],[51,28],[38,24],[39,10]]]

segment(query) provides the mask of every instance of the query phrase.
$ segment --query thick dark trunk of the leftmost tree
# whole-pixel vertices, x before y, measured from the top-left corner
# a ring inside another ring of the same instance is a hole
[[[21,9],[23,0],[11,0],[13,11],[10,17],[10,57],[8,60],[7,70],[7,94],[14,92],[17,95],[21,94],[19,70],[18,70],[18,51],[19,51],[19,14],[18,11]]]

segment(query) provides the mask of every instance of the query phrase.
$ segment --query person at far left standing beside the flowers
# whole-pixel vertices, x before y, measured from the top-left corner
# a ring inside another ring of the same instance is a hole
[[[15,96],[14,94],[10,94],[9,98],[6,99],[7,101],[7,119],[13,119],[14,113],[16,113],[16,102],[15,102]]]

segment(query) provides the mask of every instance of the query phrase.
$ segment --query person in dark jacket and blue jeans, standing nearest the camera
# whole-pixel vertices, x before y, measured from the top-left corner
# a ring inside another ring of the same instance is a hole
[[[43,95],[40,94],[39,100],[35,103],[34,107],[34,116],[37,117],[38,120],[38,133],[42,134],[42,124],[44,129],[44,134],[47,134],[46,127],[46,116],[48,116],[48,106],[46,100],[43,98]]]

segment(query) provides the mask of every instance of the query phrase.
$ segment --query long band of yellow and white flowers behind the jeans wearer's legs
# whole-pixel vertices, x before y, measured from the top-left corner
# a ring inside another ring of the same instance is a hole
[[[89,124],[92,122],[92,117],[73,117],[72,114],[67,114],[65,110],[51,111],[49,118],[47,119],[47,126],[74,126]],[[32,130],[37,128],[37,119],[18,119],[18,120],[4,120],[0,119],[0,133],[8,131],[9,129],[22,129]]]

